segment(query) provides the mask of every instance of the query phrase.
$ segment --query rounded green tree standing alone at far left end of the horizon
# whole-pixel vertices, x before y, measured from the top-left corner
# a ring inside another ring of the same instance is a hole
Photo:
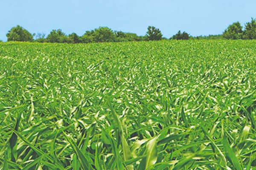
[[[21,26],[11,28],[6,37],[7,41],[33,41],[32,34]]]

